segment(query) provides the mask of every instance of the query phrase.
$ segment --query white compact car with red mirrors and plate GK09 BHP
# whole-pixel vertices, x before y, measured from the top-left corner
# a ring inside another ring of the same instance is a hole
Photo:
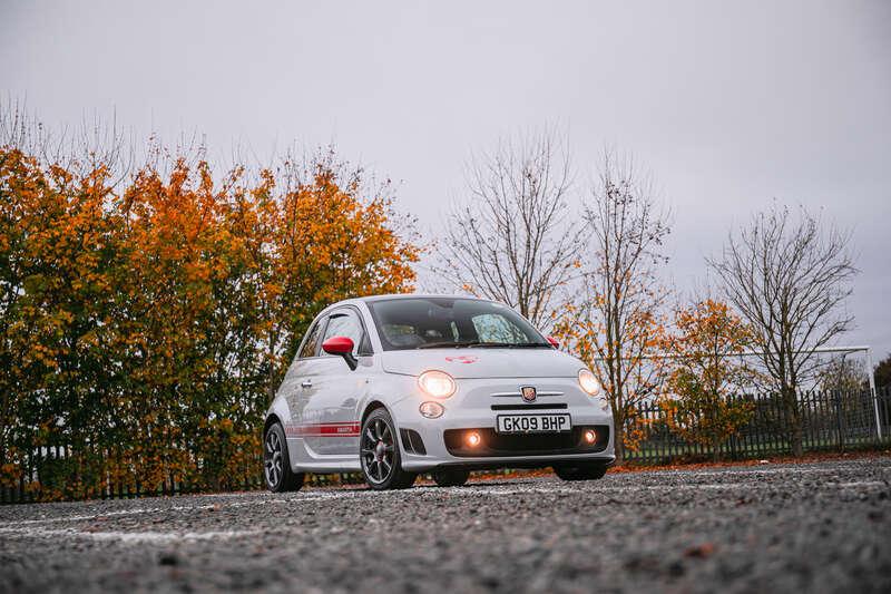
[[[554,467],[600,478],[613,417],[594,374],[510,308],[480,299],[380,295],[313,321],[266,413],[273,491],[304,473],[362,471],[374,489],[421,473]]]

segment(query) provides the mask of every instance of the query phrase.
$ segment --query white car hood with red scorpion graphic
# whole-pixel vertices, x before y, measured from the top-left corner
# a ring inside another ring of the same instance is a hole
[[[585,366],[575,357],[552,349],[419,349],[384,351],[384,371],[420,376],[428,369],[446,371],[456,379],[575,378]]]

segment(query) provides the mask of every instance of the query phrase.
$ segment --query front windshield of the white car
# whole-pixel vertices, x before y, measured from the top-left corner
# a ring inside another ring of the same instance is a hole
[[[402,298],[369,302],[384,350],[550,348],[507,305],[476,299]]]

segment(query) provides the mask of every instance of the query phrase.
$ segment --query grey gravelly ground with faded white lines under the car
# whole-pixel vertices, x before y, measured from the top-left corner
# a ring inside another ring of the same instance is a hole
[[[891,458],[0,508],[0,591],[891,591]]]

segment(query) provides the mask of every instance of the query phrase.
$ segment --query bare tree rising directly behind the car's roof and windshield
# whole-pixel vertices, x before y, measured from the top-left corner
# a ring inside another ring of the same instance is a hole
[[[578,269],[581,225],[567,204],[568,153],[549,132],[471,160],[467,199],[453,207],[433,272],[459,290],[549,324]]]

